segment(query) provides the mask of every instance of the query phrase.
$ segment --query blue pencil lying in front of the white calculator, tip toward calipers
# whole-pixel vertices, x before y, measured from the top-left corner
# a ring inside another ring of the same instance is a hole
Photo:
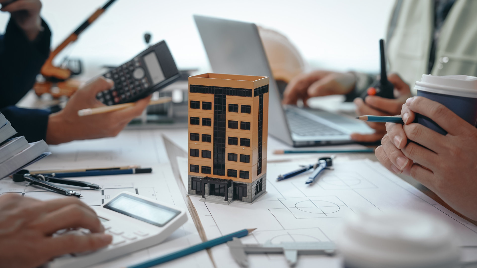
[[[217,245],[226,243],[227,241],[232,241],[232,239],[234,237],[238,237],[238,238],[245,237],[249,233],[251,233],[253,230],[255,230],[255,229],[243,229],[241,231],[238,231],[238,232],[235,232],[235,233],[223,236],[223,237],[218,237],[218,238],[206,241],[204,243],[200,243],[200,244],[192,246],[192,247],[187,247],[187,248],[184,248],[182,250],[179,250],[179,251],[176,251],[176,252],[173,252],[173,253],[169,253],[169,254],[161,256],[159,258],[151,259],[151,260],[145,261],[143,263],[128,266],[126,268],[148,268],[148,267],[156,266],[158,264],[165,263],[165,262],[171,261],[171,260],[176,259],[176,258],[181,258],[181,257],[187,256],[189,254],[195,253],[195,252],[203,250],[203,249],[207,249],[207,248],[210,248],[210,247],[215,247]]]

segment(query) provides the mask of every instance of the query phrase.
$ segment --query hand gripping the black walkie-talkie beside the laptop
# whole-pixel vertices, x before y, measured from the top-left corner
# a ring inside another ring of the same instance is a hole
[[[401,107],[406,99],[412,97],[409,85],[406,84],[397,74],[390,74],[388,81],[394,85],[395,99],[387,99],[378,96],[367,96],[364,101],[356,98],[356,113],[358,115],[383,115],[393,116],[401,113]],[[384,123],[366,122],[375,130],[373,134],[351,134],[351,139],[357,142],[375,142],[379,141],[386,134],[386,126]]]

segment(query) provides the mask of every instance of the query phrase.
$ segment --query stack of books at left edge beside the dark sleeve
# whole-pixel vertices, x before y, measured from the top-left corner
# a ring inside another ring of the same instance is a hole
[[[0,179],[51,154],[43,140],[28,143],[24,136],[9,139],[16,133],[0,113]]]

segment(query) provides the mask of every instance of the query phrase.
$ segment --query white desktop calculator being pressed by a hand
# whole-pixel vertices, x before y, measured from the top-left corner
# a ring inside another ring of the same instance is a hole
[[[165,205],[131,192],[121,192],[108,203],[93,207],[113,242],[102,249],[68,254],[54,259],[47,268],[84,268],[161,243],[187,222],[185,210]],[[86,235],[87,229],[55,235]],[[55,236],[54,235],[54,236]]]

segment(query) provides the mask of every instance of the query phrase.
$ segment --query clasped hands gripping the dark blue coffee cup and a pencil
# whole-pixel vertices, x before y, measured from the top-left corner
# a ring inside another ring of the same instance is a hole
[[[413,123],[415,113],[429,117],[447,134]],[[375,151],[381,164],[411,175],[449,206],[477,220],[477,128],[424,97],[409,98],[401,115],[404,125],[386,123],[388,133]]]

